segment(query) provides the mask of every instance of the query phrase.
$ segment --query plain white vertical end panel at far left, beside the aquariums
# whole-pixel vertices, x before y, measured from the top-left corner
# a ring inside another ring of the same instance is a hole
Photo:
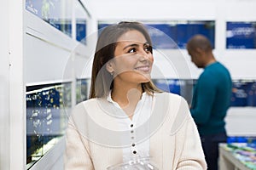
[[[22,4],[1,2],[1,169],[24,169],[26,162]]]

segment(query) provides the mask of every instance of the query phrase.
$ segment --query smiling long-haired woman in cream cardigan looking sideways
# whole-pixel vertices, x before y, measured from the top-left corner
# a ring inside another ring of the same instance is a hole
[[[153,62],[142,24],[120,22],[102,31],[90,99],[69,118],[66,169],[103,170],[138,157],[158,169],[207,168],[186,101],[154,86]]]

